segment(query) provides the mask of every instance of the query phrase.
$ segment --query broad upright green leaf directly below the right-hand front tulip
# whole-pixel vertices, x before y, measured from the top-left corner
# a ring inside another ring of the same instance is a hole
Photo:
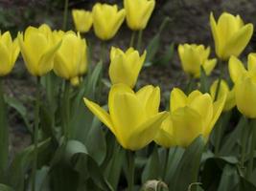
[[[198,170],[204,146],[204,140],[199,136],[186,148],[177,165],[171,189],[175,191],[188,190],[191,183],[198,182]]]

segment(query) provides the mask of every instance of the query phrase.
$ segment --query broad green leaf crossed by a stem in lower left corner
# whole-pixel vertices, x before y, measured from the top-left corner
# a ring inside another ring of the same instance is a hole
[[[38,144],[38,154],[50,144],[50,141],[51,138],[47,138]],[[25,175],[28,169],[31,168],[34,159],[34,151],[35,146],[31,145],[15,156],[12,161],[8,177],[10,185],[12,185],[16,191],[22,191],[24,188]]]

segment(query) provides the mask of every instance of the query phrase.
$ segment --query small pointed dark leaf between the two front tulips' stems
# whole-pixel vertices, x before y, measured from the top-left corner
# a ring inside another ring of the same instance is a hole
[[[157,151],[157,146],[154,145],[153,152],[150,159],[148,159],[147,164],[142,173],[142,182],[145,183],[147,180],[155,180],[159,178],[160,174],[159,165],[159,155]]]

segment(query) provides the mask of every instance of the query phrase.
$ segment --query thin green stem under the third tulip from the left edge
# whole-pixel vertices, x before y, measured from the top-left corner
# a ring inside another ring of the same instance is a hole
[[[64,93],[63,93],[63,102],[64,102],[64,138],[67,141],[70,138],[70,84],[69,81],[64,82]]]

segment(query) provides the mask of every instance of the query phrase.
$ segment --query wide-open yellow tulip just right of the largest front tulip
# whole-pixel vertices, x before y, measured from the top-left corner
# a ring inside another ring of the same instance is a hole
[[[170,96],[170,116],[162,123],[155,142],[164,147],[187,147],[199,135],[207,140],[221,115],[225,95],[213,100],[209,94],[194,91],[186,96],[175,88]]]

